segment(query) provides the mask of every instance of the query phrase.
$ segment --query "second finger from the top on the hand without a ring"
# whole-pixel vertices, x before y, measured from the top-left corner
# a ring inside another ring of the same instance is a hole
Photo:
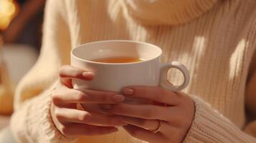
[[[52,94],[52,102],[61,107],[67,103],[117,104],[125,99],[123,95],[114,92],[85,91],[86,93],[75,89],[61,88]]]

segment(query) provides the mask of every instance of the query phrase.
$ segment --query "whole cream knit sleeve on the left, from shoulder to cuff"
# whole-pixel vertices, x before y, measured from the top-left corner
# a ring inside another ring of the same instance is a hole
[[[63,19],[65,6],[62,3],[47,1],[39,59],[16,89],[11,132],[17,142],[72,141],[54,127],[49,112],[58,70],[70,60],[70,34],[67,21]]]

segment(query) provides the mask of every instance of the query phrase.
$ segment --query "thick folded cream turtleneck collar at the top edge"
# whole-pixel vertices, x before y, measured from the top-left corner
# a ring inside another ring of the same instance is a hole
[[[184,24],[209,11],[219,0],[120,0],[141,24]]]

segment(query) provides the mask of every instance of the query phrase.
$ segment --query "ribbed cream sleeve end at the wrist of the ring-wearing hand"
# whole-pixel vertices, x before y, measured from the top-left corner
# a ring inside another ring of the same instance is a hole
[[[212,109],[199,97],[191,97],[195,102],[196,112],[184,143],[200,142],[255,142],[255,139],[242,132],[232,122]]]

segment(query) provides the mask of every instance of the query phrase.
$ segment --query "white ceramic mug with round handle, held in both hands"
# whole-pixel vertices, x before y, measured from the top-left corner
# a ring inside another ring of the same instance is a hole
[[[109,40],[82,44],[72,49],[71,64],[93,71],[95,78],[92,81],[73,79],[74,88],[111,92],[120,92],[123,87],[133,85],[161,86],[174,92],[184,89],[189,84],[189,71],[177,61],[161,64],[161,54],[158,46],[141,41]],[[115,56],[133,56],[144,60],[117,64],[91,61]],[[167,72],[171,68],[182,72],[183,84],[170,84]]]

